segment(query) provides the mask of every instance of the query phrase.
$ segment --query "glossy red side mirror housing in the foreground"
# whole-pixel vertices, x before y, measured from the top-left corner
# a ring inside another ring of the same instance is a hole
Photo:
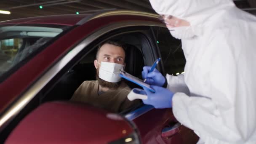
[[[42,104],[27,115],[5,143],[102,144],[133,131],[130,123],[117,114],[85,104],[55,101]]]

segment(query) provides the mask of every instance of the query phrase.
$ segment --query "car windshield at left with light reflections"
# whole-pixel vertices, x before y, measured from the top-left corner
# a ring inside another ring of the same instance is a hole
[[[49,24],[0,26],[0,77],[58,36],[68,26]]]

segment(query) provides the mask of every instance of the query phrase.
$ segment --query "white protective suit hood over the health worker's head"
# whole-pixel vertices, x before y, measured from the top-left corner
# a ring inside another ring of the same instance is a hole
[[[149,0],[158,14],[172,15],[191,25],[203,24],[221,10],[235,7],[232,0]]]

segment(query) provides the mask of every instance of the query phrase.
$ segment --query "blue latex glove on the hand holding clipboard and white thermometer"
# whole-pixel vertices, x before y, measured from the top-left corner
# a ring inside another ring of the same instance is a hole
[[[151,85],[150,87],[155,90],[155,93],[144,88],[144,91],[147,93],[147,99],[142,100],[144,104],[152,105],[157,109],[172,107],[173,92],[169,91],[167,88],[156,85]]]

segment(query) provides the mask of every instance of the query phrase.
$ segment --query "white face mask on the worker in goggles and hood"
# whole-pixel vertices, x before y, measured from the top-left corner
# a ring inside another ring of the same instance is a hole
[[[192,27],[172,27],[168,29],[171,35],[177,39],[190,39],[195,36]]]

